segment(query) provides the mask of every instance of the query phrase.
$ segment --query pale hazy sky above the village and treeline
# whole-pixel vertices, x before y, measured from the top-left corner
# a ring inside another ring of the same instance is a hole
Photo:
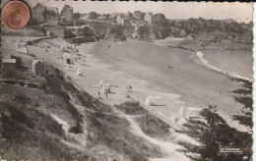
[[[7,0],[2,0],[7,1]],[[249,23],[252,20],[252,3],[214,3],[214,2],[135,2],[135,1],[74,1],[74,0],[25,0],[30,6],[42,3],[48,7],[58,7],[61,11],[65,4],[74,8],[74,12],[89,13],[95,11],[98,14],[112,12],[153,12],[162,13],[166,19],[233,19],[238,23]]]

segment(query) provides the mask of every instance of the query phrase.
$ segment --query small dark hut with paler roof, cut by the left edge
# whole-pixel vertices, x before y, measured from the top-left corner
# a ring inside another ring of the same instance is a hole
[[[2,79],[14,79],[15,78],[15,59],[3,59],[1,66]]]

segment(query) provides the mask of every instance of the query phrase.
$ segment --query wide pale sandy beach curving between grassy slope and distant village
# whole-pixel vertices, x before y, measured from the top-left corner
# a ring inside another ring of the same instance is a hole
[[[47,41],[63,43],[59,39]],[[41,41],[36,46],[30,46],[29,52],[64,71],[94,97],[98,97],[98,91],[101,92],[99,81],[107,79],[113,87],[108,99],[101,93],[104,103],[114,105],[129,101],[131,98],[127,98],[127,94],[141,102],[145,102],[148,96],[160,97],[156,99],[156,106],[151,108],[171,121],[174,121],[183,106],[188,109],[190,117],[197,116],[202,108],[218,105],[219,113],[225,116],[227,122],[245,131],[228,118],[240,113],[241,105],[230,94],[240,85],[239,82],[202,66],[191,51],[138,40],[123,43],[99,41],[80,45],[82,58],[75,60],[75,65],[68,70],[61,59],[63,53],[57,48],[51,47],[47,49],[48,52],[40,49],[38,52],[38,47],[43,43]],[[82,66],[83,60],[86,66]],[[82,70],[83,76],[76,75],[78,68]],[[132,85],[132,91],[127,91],[127,83]]]

